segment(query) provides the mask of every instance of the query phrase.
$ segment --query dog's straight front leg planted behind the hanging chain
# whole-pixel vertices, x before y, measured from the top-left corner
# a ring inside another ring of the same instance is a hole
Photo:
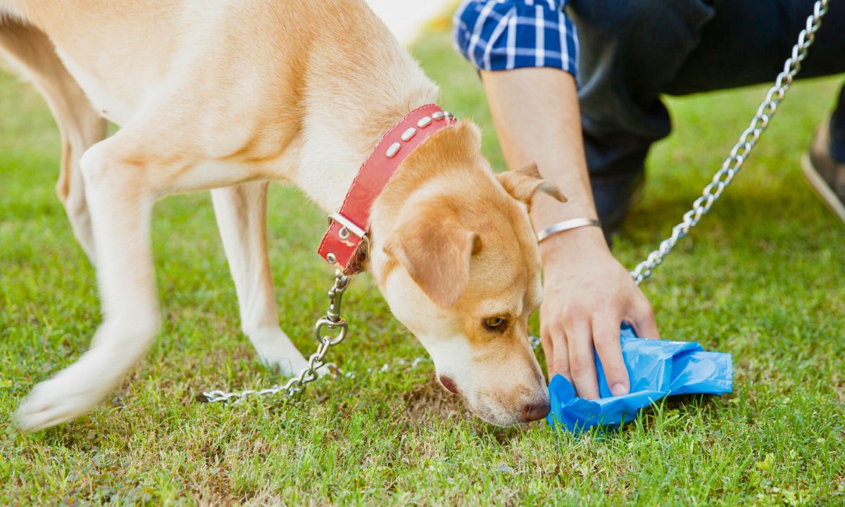
[[[241,308],[241,328],[259,357],[284,375],[308,365],[279,327],[267,254],[267,187],[243,183],[211,191],[217,226]]]

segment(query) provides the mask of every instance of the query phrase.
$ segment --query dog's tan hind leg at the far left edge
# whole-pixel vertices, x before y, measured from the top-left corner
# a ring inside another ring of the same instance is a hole
[[[106,138],[106,120],[94,111],[41,30],[14,19],[0,20],[0,52],[41,92],[56,119],[62,134],[62,165],[56,191],[79,245],[94,263],[94,235],[79,159],[85,150]]]

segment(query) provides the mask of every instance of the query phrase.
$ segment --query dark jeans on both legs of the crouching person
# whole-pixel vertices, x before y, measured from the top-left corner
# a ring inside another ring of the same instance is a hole
[[[579,99],[597,206],[602,185],[642,177],[652,143],[672,124],[660,95],[773,82],[812,0],[572,0],[581,38]],[[800,78],[845,72],[845,5],[831,2]],[[825,99],[828,100],[828,99]],[[845,90],[831,97],[831,155],[845,162]],[[745,125],[737,125],[737,134]],[[617,189],[619,190],[619,189]],[[623,199],[624,200],[624,199]],[[608,211],[599,210],[600,215]]]

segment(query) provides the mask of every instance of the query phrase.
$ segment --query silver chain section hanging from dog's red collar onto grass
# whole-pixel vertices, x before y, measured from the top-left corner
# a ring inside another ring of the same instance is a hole
[[[308,366],[303,368],[303,371],[299,372],[296,377],[289,379],[284,385],[274,385],[263,390],[243,390],[240,392],[227,392],[224,390],[206,391],[203,393],[205,401],[210,403],[215,401],[237,402],[249,396],[269,396],[285,392],[288,396],[292,397],[302,393],[309,382],[319,379],[319,373],[317,372],[319,368],[330,366],[324,361],[329,349],[346,339],[349,325],[346,324],[346,319],[341,317],[341,302],[343,300],[343,292],[346,291],[347,286],[349,286],[349,276],[344,275],[341,270],[336,270],[335,283],[329,290],[329,311],[314,324],[314,336],[317,338],[319,346],[317,346],[317,351],[308,358]],[[324,329],[329,331],[340,330],[340,332],[336,336],[332,336],[325,334]]]

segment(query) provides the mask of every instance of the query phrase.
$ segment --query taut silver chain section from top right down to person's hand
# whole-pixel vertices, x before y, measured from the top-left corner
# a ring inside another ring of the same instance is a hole
[[[749,128],[746,128],[739,136],[739,141],[733,145],[730,155],[722,163],[722,168],[716,172],[711,182],[704,188],[701,197],[695,199],[692,209],[684,213],[684,220],[673,227],[672,236],[664,239],[657,250],[648,254],[648,258],[637,264],[636,268],[630,272],[637,285],[646,280],[651,272],[663,262],[663,258],[672,251],[675,243],[685,237],[691,228],[698,225],[701,217],[710,211],[713,203],[722,196],[722,192],[731,184],[733,177],[742,169],[744,162],[748,160],[751,154],[751,150],[754,149],[755,144],[760,139],[760,135],[769,126],[771,117],[775,116],[777,107],[780,106],[784,95],[792,86],[793,79],[801,70],[801,62],[807,57],[807,52],[815,41],[815,32],[821,26],[821,18],[827,14],[827,3],[828,0],[818,0],[815,3],[813,14],[810,14],[807,18],[806,28],[801,30],[798,43],[793,46],[792,56],[783,63],[783,70],[781,74],[777,75],[775,85],[766,93],[766,100],[757,108],[757,114],[751,120]]]

